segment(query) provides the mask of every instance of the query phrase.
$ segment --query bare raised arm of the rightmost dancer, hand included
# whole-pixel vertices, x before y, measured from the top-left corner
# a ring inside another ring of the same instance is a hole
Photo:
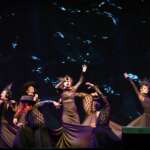
[[[140,101],[144,101],[144,96],[140,93],[140,91],[138,90],[137,86],[135,85],[135,83],[129,78],[128,74],[127,73],[124,73],[124,77],[126,79],[128,79],[135,91],[135,93],[137,94],[138,98]]]

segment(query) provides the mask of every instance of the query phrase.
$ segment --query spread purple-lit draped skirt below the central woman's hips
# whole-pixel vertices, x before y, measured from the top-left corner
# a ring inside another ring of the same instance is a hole
[[[89,126],[63,123],[56,148],[91,148],[93,137],[93,128]]]

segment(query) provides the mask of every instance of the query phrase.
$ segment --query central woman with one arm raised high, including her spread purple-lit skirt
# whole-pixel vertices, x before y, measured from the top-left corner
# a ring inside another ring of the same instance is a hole
[[[59,140],[56,148],[87,148],[92,140],[92,128],[80,124],[80,118],[75,104],[77,89],[83,82],[83,73],[87,66],[82,66],[80,80],[72,85],[73,80],[69,76],[61,78],[56,88],[62,89],[60,102],[62,103],[62,128],[59,130]],[[58,133],[58,132],[57,132]]]

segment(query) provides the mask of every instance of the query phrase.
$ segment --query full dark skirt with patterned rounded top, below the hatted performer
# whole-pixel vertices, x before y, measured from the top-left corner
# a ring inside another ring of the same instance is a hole
[[[33,109],[25,117],[27,124],[18,130],[13,148],[51,148],[49,130],[42,114]]]

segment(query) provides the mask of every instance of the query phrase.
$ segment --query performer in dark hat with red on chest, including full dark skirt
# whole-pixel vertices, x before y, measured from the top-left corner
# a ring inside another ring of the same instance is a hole
[[[39,101],[37,90],[33,82],[25,85],[25,93],[20,99],[14,124],[20,129],[14,140],[14,148],[51,147],[50,137],[43,114],[36,107]]]

